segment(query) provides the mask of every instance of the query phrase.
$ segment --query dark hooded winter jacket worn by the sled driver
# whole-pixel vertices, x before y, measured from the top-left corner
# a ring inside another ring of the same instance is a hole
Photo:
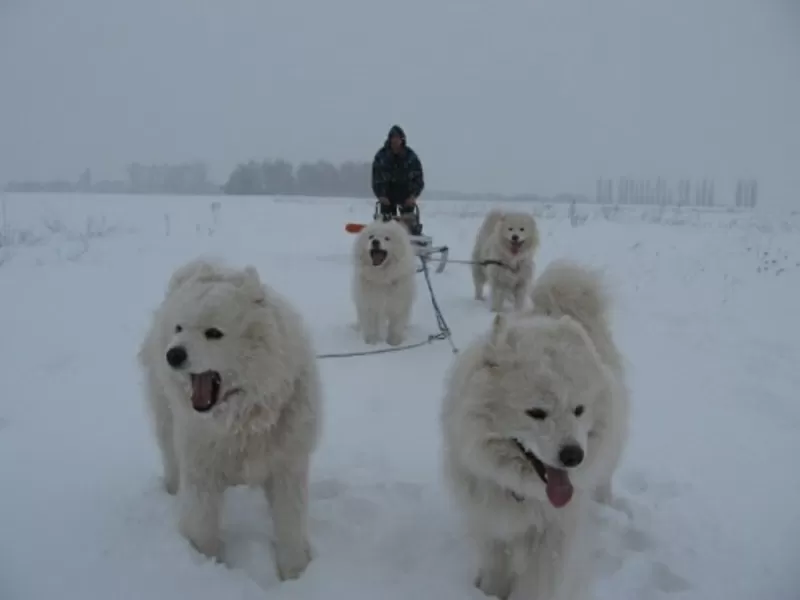
[[[393,134],[398,134],[403,139],[403,148],[399,154],[392,152],[389,143],[389,138]],[[423,189],[425,189],[425,177],[422,162],[417,153],[406,145],[403,130],[395,125],[372,161],[372,191],[376,198],[384,197],[394,202],[401,202],[408,196],[419,196]],[[404,197],[397,197],[398,195]]]

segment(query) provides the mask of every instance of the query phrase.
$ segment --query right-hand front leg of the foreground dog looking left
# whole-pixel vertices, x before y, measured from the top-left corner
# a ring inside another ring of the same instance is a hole
[[[308,461],[277,467],[264,485],[275,529],[275,563],[282,580],[297,579],[311,562],[308,541]]]

